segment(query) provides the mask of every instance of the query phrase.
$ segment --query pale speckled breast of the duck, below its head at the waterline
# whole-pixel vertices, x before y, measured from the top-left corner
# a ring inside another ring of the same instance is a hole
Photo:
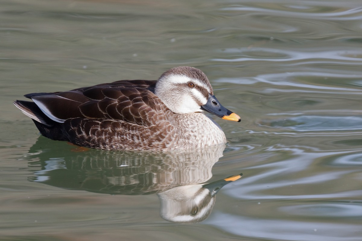
[[[185,149],[215,146],[226,143],[222,129],[203,113],[176,114],[177,146]]]

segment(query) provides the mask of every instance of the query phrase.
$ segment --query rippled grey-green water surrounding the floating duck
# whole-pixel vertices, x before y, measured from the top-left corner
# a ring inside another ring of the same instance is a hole
[[[0,240],[362,240],[361,28],[359,0],[1,1]],[[225,150],[77,152],[12,104],[181,65],[240,115]],[[239,173],[206,220],[161,217]]]

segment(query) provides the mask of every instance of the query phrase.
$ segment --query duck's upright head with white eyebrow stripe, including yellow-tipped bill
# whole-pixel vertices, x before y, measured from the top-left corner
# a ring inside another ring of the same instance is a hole
[[[214,96],[206,75],[199,69],[181,66],[167,70],[156,83],[155,94],[174,113],[203,110],[222,119],[240,122],[240,117],[223,107]]]

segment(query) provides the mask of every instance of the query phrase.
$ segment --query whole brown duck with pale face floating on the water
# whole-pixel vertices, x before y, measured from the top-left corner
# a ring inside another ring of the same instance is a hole
[[[13,103],[50,139],[101,150],[188,151],[225,144],[203,111],[240,122],[216,99],[206,75],[179,66],[157,81],[120,80],[70,91],[30,93]]]

